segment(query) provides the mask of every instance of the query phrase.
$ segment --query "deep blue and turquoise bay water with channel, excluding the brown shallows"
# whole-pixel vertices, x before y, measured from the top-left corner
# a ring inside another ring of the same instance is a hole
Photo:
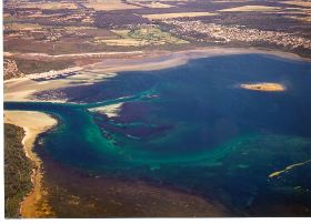
[[[239,88],[253,82],[287,91]],[[269,177],[311,159],[310,83],[310,63],[228,55],[58,90],[79,104],[4,108],[58,116],[41,140],[47,154],[70,166],[187,190],[239,214],[271,215],[278,207],[287,215],[290,206],[310,215],[311,163]],[[117,118],[87,110],[120,102]]]

